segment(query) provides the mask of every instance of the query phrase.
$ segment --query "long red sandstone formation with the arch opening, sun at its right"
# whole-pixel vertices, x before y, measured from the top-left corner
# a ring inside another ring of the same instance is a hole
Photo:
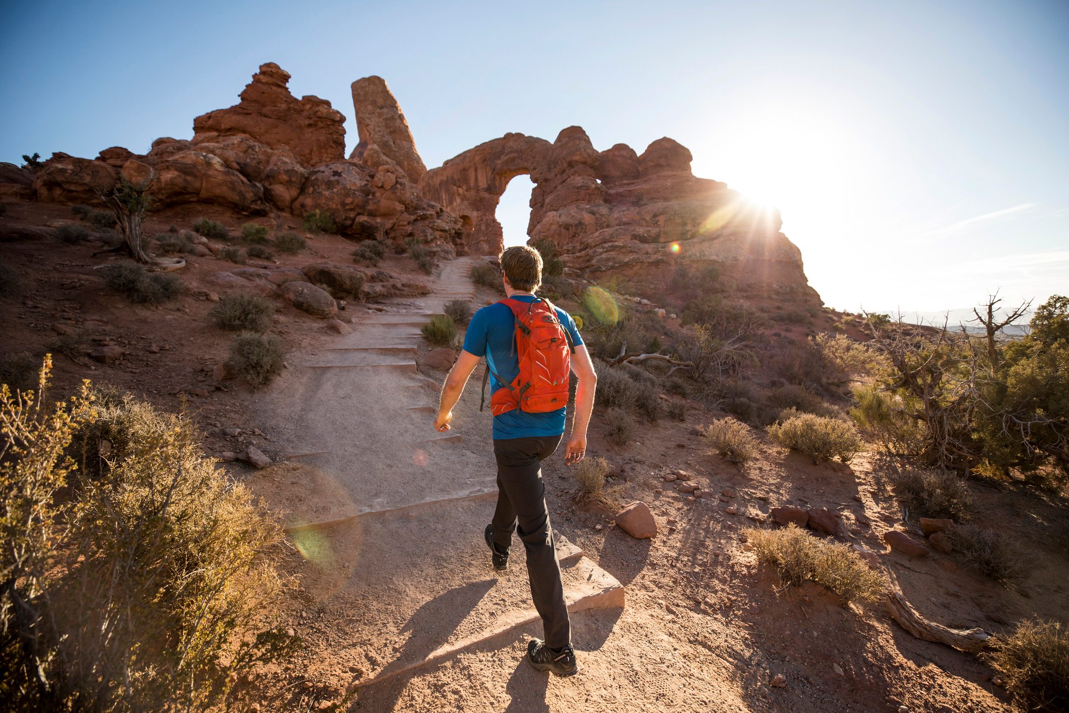
[[[549,144],[509,134],[428,171],[420,192],[461,217],[472,252],[496,252],[493,211],[509,180],[529,173],[531,241],[547,239],[566,267],[662,284],[682,262],[715,264],[741,291],[818,300],[802,255],[775,211],[691,172],[691,152],[663,138],[639,156],[625,144],[598,152],[571,126]]]

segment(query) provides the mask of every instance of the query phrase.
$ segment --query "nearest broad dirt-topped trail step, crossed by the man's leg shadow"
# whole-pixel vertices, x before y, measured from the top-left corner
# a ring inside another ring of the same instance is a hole
[[[351,686],[366,686],[537,622],[518,538],[508,570],[491,565],[483,529],[493,511],[493,498],[467,498],[292,531],[306,561],[300,586],[324,604],[299,632],[306,646],[331,648],[361,669]],[[569,610],[622,607],[622,585],[555,539]]]

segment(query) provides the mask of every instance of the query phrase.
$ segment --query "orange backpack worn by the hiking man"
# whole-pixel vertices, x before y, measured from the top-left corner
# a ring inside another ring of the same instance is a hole
[[[548,299],[536,297],[532,303],[518,299],[502,299],[512,310],[516,325],[516,355],[520,357],[520,374],[506,384],[494,374],[498,389],[490,398],[490,410],[500,416],[514,408],[528,414],[544,414],[563,408],[568,404],[568,377],[571,372],[571,355],[575,352],[572,336],[557,319],[557,310]],[[486,374],[483,374],[483,403],[485,403]],[[482,404],[479,406],[482,410]]]

